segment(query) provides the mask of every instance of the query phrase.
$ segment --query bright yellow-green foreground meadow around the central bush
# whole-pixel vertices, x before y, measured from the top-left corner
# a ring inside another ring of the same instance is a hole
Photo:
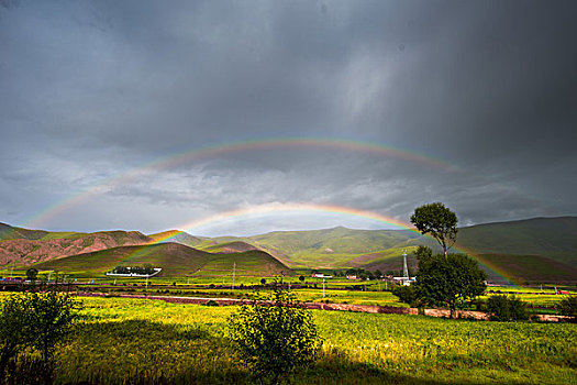
[[[82,298],[56,383],[254,383],[226,337],[236,307]],[[315,311],[319,360],[293,384],[570,384],[577,326]]]

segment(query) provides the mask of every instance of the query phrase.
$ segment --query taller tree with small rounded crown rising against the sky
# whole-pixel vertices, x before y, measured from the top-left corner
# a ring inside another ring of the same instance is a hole
[[[447,250],[457,240],[457,216],[441,202],[423,205],[414,209],[411,223],[421,234],[431,234],[447,255]]]

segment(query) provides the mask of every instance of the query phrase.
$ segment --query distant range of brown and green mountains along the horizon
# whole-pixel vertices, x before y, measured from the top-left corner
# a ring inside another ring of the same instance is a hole
[[[191,251],[155,249],[149,245],[156,242],[178,243]],[[402,251],[407,250],[411,254],[420,244],[440,252],[434,240],[409,230],[352,230],[337,227],[311,231],[275,231],[246,238],[200,238],[178,230],[148,235],[137,231],[78,233],[29,230],[0,223],[0,264],[7,265],[13,261],[19,265],[37,263],[43,268],[56,264],[56,261],[62,261],[58,264],[64,268],[65,261],[71,261],[66,257],[78,254],[85,255],[82,258],[89,258],[91,264],[98,264],[99,258],[104,261],[109,257],[119,263],[122,257],[119,256],[119,260],[111,255],[131,254],[134,250],[130,251],[129,246],[148,245],[146,250],[151,253],[153,250],[163,250],[165,265],[190,264],[190,268],[185,268],[188,272],[195,268],[210,271],[210,263],[217,263],[214,261],[221,261],[219,263],[224,265],[232,264],[236,254],[253,253],[254,256],[263,251],[265,253],[260,256],[271,255],[279,263],[273,267],[275,263],[271,262],[271,267],[265,268],[267,272],[288,267],[363,267],[397,273],[402,268]],[[502,275],[521,282],[577,282],[577,217],[534,218],[465,227],[459,229],[458,243],[455,246],[457,251],[473,254],[492,266],[492,270],[487,268],[492,279],[501,278],[495,273],[500,271],[504,273]],[[204,255],[202,252],[210,257],[206,261],[200,258],[199,255]],[[174,263],[168,262],[171,253],[175,253]],[[195,254],[201,267],[197,266],[197,262],[190,262],[190,258],[187,260],[189,262],[177,263],[176,255],[182,253]],[[148,255],[144,252],[141,254]],[[147,257],[151,258],[153,254]],[[82,258],[76,261],[81,264]],[[142,261],[145,262],[144,260],[146,257]],[[53,261],[52,264],[49,261]],[[414,257],[409,257],[410,268],[414,271],[415,265]],[[260,273],[265,274],[264,271]]]

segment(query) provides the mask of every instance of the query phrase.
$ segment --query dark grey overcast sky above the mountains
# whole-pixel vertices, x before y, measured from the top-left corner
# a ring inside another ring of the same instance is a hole
[[[577,215],[576,14],[573,0],[0,0],[0,222],[148,233],[297,204],[409,222],[432,201],[462,226]],[[169,161],[286,138],[317,144]],[[387,228],[271,210],[189,232],[340,224]]]

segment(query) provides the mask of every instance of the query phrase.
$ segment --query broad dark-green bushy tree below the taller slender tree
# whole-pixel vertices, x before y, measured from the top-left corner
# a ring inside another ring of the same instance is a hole
[[[433,306],[447,306],[450,317],[454,318],[457,304],[473,300],[485,292],[486,278],[477,261],[468,255],[423,253],[414,283],[417,299]]]

